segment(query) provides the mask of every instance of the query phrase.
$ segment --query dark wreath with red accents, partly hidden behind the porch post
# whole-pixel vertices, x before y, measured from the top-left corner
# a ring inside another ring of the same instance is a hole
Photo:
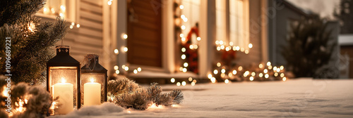
[[[198,44],[194,45],[191,41],[192,34],[196,34],[196,37],[199,37],[198,34],[198,25],[192,27],[186,37],[184,42],[181,42],[181,48],[185,48],[186,62],[188,63],[187,70],[198,74]],[[196,39],[196,41],[198,41]],[[191,46],[192,45],[192,46]],[[192,48],[191,48],[192,47]]]

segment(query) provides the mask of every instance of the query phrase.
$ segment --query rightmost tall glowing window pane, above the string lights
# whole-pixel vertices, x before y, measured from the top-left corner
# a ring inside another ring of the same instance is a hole
[[[249,0],[229,0],[229,41],[249,49]]]

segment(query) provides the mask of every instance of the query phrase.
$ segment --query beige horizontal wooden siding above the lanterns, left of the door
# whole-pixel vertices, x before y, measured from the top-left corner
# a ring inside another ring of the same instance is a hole
[[[71,56],[82,62],[89,53],[100,57],[103,53],[102,0],[79,0],[78,4],[80,27],[74,27],[66,34],[64,44],[71,47]]]

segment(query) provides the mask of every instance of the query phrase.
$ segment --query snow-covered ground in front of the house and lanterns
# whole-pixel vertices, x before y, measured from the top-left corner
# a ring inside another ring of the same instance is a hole
[[[353,79],[290,79],[162,88],[182,89],[184,103],[143,111],[104,103],[56,117],[353,117]]]

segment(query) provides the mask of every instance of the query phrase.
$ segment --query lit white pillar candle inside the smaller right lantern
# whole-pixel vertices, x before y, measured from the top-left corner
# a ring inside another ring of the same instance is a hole
[[[85,89],[83,93],[84,105],[100,105],[100,84],[94,82],[95,79],[90,79],[90,82],[83,85]]]

